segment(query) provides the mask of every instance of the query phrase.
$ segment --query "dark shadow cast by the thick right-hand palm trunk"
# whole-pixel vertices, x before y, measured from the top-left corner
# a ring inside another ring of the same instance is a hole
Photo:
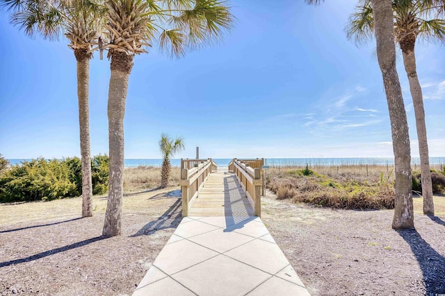
[[[398,234],[410,245],[412,253],[416,256],[425,281],[426,295],[445,294],[444,256],[437,253],[416,229],[398,230]]]

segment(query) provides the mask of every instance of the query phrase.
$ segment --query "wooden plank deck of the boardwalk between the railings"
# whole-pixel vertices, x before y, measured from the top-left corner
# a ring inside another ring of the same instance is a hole
[[[245,191],[233,173],[211,173],[188,212],[191,217],[254,216]]]

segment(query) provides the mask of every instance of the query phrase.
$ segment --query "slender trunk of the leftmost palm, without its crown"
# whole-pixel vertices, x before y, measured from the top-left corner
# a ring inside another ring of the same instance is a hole
[[[82,217],[92,216],[92,182],[90,155],[90,112],[88,86],[91,54],[86,49],[75,49],[77,62],[77,97],[79,100],[79,127],[82,159]]]

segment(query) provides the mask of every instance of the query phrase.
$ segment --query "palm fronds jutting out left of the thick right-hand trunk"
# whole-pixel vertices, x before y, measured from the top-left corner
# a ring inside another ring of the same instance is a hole
[[[345,31],[348,39],[355,40],[356,44],[373,37],[374,16],[371,3],[368,2],[364,6],[355,8],[355,12],[349,17]]]

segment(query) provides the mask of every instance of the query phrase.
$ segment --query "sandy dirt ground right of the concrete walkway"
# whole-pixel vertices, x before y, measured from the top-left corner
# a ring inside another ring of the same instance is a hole
[[[262,200],[262,220],[312,295],[445,294],[445,216],[351,211]]]

